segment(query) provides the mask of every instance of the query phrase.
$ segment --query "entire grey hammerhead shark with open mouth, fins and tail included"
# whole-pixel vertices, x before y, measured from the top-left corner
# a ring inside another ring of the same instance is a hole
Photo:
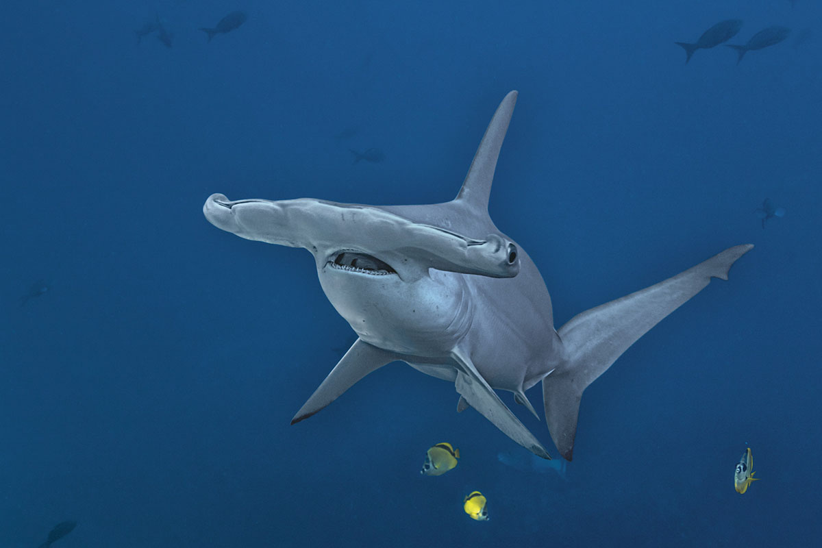
[[[533,454],[543,444],[502,403],[543,383],[552,440],[570,460],[583,390],[659,320],[752,246],[575,316],[554,329],[537,266],[488,215],[488,196],[517,93],[489,124],[459,195],[433,205],[350,205],[325,200],[205,201],[206,219],[249,240],[312,252],[323,291],[358,335],[292,424],[325,408],[392,361],[455,383],[458,411],[472,407]]]

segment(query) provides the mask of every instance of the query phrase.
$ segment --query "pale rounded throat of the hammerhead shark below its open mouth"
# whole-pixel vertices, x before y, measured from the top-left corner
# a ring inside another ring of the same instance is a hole
[[[317,274],[339,315],[377,348],[447,362],[471,324],[472,301],[463,274],[431,269],[411,283],[396,274],[375,276],[328,265]]]

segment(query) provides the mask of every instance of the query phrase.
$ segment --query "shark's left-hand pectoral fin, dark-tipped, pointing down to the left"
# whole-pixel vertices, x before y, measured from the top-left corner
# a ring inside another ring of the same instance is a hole
[[[399,358],[393,352],[376,348],[358,338],[351,345],[349,351],[345,352],[343,359],[331,370],[326,380],[322,381],[311,398],[308,398],[308,401],[294,415],[291,424],[311,417],[336,398],[339,398],[341,394],[355,385],[365,375],[397,359]]]

